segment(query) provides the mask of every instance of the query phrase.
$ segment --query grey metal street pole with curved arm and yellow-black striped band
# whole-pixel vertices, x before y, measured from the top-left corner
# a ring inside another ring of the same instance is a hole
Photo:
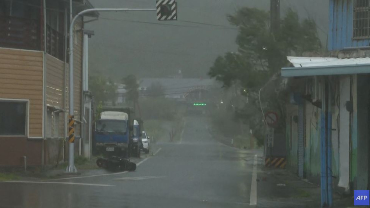
[[[157,11],[157,9],[87,9],[78,13],[71,21],[69,34],[69,122],[68,122],[68,142],[69,142],[69,160],[66,172],[77,172],[74,166],[74,98],[73,98],[73,27],[78,17],[85,13],[93,11]]]

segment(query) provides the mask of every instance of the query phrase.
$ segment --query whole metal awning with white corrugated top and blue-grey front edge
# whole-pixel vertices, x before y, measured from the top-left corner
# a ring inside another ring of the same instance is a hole
[[[292,67],[281,69],[282,77],[370,73],[370,58],[287,57]]]

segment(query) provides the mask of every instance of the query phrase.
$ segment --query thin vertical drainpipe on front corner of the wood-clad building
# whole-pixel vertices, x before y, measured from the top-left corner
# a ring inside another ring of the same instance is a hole
[[[41,167],[44,168],[45,158],[45,138],[46,138],[46,0],[43,0],[43,16],[44,16],[44,54],[43,54],[43,141],[41,144]]]

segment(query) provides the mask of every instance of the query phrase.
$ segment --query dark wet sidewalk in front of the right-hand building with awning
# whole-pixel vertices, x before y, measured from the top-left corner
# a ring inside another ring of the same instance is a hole
[[[302,180],[288,170],[259,166],[258,187],[260,207],[303,207],[320,208],[320,186]],[[333,193],[333,207],[353,207],[352,197]]]

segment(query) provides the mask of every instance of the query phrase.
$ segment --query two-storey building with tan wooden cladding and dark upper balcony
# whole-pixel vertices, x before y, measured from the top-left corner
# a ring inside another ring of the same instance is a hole
[[[73,7],[74,13],[92,8],[80,0]],[[67,156],[69,22],[63,0],[0,0],[0,167],[21,166],[25,158],[27,165],[52,165]],[[83,28],[81,17],[74,30],[76,153],[83,139]]]

